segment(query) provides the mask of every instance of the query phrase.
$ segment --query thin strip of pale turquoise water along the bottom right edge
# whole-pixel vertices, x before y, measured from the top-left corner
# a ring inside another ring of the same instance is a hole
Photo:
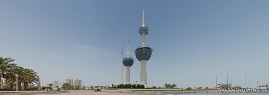
[[[269,95],[269,93],[196,93],[196,94],[172,94],[172,95]]]

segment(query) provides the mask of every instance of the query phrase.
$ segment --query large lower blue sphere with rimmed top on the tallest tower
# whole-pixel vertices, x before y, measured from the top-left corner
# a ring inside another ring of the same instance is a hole
[[[152,48],[146,44],[141,44],[135,49],[136,59],[139,61],[146,60],[148,61],[151,57]]]

